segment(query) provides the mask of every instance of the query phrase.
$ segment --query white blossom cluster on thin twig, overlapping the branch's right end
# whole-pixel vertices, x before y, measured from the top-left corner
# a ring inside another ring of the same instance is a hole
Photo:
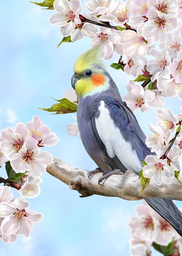
[[[146,145],[151,152],[159,152],[156,155],[145,157],[143,176],[153,178],[157,185],[161,185],[163,177],[173,178],[175,172],[179,172],[179,157],[182,154],[182,108],[180,113],[175,115],[171,109],[157,109],[156,116],[159,121],[156,127],[149,124],[150,134],[146,138]],[[174,135],[175,134],[175,135]],[[176,136],[176,137],[174,137]]]

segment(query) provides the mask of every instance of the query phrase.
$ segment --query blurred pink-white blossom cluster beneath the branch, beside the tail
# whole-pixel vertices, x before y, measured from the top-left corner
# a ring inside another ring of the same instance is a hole
[[[167,246],[171,241],[174,255],[182,254],[182,239],[179,234],[144,200],[136,206],[136,216],[131,217],[128,225],[131,229],[131,256],[151,256],[151,246],[154,243]]]

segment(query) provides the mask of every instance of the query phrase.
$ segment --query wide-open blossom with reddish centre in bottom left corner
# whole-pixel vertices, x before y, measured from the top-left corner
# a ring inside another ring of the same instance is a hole
[[[15,198],[9,204],[0,203],[0,217],[4,218],[1,224],[1,232],[5,235],[23,235],[28,237],[34,222],[38,223],[43,215],[28,209],[29,203],[24,198]]]

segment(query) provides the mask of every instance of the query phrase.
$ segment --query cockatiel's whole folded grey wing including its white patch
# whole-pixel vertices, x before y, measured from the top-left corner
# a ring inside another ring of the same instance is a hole
[[[143,166],[141,161],[151,151],[130,109],[122,101],[100,97],[91,104],[90,118],[100,148],[126,169],[139,173]]]

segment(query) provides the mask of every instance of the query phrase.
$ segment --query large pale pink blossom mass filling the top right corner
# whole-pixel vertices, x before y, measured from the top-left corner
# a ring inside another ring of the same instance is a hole
[[[132,111],[159,108],[162,96],[182,99],[181,1],[91,0],[85,6],[89,13],[81,15],[80,0],[55,0],[49,22],[71,41],[86,36],[92,47],[104,41],[104,60],[115,52],[125,59],[120,63],[125,73],[142,76],[135,81],[146,81],[145,86],[130,82],[124,96]]]

